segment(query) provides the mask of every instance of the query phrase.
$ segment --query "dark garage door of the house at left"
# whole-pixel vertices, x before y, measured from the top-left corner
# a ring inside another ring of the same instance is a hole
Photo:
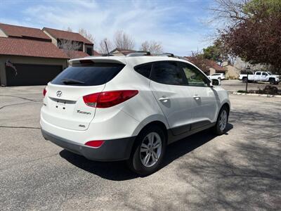
[[[46,85],[63,67],[61,65],[13,64],[17,71],[6,67],[7,86]]]

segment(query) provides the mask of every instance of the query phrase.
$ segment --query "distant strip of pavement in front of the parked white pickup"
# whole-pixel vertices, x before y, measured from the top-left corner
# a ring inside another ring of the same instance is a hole
[[[274,86],[278,89],[281,89],[281,83],[278,85],[273,85],[269,83],[248,83],[248,90],[264,89],[266,85]],[[223,80],[221,81],[221,86],[228,91],[245,90],[246,88],[246,84],[244,84],[240,80]]]

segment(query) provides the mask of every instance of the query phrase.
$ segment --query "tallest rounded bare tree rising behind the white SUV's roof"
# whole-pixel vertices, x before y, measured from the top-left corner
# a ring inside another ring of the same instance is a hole
[[[129,34],[119,30],[115,33],[115,47],[119,49],[131,50],[135,47],[135,41]]]

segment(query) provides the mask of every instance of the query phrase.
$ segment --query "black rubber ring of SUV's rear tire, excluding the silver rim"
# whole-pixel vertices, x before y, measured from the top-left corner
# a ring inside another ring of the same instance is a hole
[[[141,143],[145,136],[151,132],[156,132],[159,134],[161,141],[162,141],[162,151],[161,155],[159,157],[159,160],[153,165],[152,167],[145,167],[143,163],[141,162],[140,158],[140,151],[141,151]],[[131,153],[131,157],[129,159],[129,167],[133,172],[136,172],[137,174],[141,175],[149,175],[154,172],[156,172],[159,167],[161,166],[162,160],[164,158],[164,153],[166,151],[166,136],[164,134],[163,129],[161,129],[158,126],[151,126],[146,129],[144,129],[138,136],[136,137],[136,143],[133,146],[133,150]]]

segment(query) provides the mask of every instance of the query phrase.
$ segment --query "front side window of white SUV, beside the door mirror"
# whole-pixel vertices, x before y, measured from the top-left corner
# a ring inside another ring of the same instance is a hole
[[[209,79],[205,77],[200,70],[188,63],[181,63],[181,68],[185,73],[185,77],[189,86],[208,87]]]

